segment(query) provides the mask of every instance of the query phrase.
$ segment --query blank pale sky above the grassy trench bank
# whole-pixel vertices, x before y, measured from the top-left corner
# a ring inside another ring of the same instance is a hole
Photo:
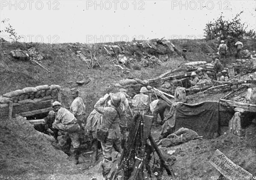
[[[241,22],[255,30],[255,9],[256,0],[0,0],[0,20],[9,18],[20,42],[106,43],[203,38],[209,21],[241,11]]]

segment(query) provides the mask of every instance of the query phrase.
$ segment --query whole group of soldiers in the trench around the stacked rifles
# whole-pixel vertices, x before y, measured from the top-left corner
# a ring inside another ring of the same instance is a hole
[[[149,89],[149,90],[148,90]],[[128,120],[128,111],[131,116],[137,113],[142,115],[152,114],[153,126],[162,125],[164,120],[164,112],[170,105],[160,97],[157,97],[157,103],[153,112],[150,112],[150,103],[152,91],[150,86],[142,87],[140,93],[136,94],[133,99],[130,99],[125,92],[105,94],[94,105],[93,111],[87,119],[82,118],[85,105],[78,90],[72,90],[71,95],[73,102],[70,109],[62,107],[60,102],[53,102],[53,110],[44,118],[46,129],[49,134],[52,134],[55,141],[58,143],[58,135],[66,134],[70,139],[70,145],[66,153],[70,154],[71,142],[74,148],[75,164],[79,164],[79,155],[81,154],[81,136],[89,137],[90,144],[93,150],[93,162],[95,165],[98,157],[98,149],[102,149],[104,160],[102,161],[103,176],[107,178],[112,165],[111,152],[114,148],[119,154],[125,146],[128,127],[127,122],[131,123],[131,118]],[[154,96],[156,97],[156,95]],[[151,99],[152,98],[152,99]],[[158,114],[160,114],[161,122],[157,122]],[[84,121],[85,120],[85,121]],[[108,131],[105,141],[98,140],[98,130],[103,128]]]

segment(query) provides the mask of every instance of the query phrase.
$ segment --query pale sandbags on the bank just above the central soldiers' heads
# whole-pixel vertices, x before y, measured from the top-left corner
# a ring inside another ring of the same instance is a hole
[[[133,79],[126,78],[126,79],[122,79],[121,81],[119,81],[114,85],[115,87],[123,88],[127,90],[127,92],[130,93],[128,95],[131,96],[132,93],[140,92],[141,87],[148,86],[148,83],[149,83],[148,80],[141,80],[138,78],[133,78]]]

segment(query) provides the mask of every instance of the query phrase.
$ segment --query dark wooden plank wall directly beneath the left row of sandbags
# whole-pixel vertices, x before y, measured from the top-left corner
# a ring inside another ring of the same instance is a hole
[[[15,113],[23,113],[27,111],[32,111],[32,110],[38,110],[38,109],[44,109],[47,107],[52,107],[53,100],[46,100],[46,101],[41,101],[37,103],[29,103],[29,104],[24,104],[24,105],[14,105],[13,110]]]

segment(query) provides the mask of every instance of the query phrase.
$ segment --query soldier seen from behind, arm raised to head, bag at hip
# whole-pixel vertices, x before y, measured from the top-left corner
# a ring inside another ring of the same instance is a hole
[[[105,101],[111,97],[110,107],[104,107]],[[101,142],[103,149],[103,164],[102,174],[103,177],[108,178],[111,171],[112,157],[111,151],[114,147],[115,150],[121,153],[121,131],[120,131],[120,117],[122,110],[120,109],[121,98],[116,94],[105,94],[103,98],[100,98],[94,105],[96,111],[102,114],[103,123],[102,128],[108,129],[108,136],[105,142]]]

